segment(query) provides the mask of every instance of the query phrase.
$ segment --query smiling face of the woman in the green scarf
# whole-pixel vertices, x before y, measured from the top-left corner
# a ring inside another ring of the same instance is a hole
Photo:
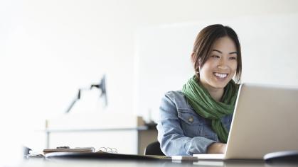
[[[218,38],[211,54],[200,68],[200,82],[205,88],[222,89],[233,79],[237,69],[237,49],[228,36]]]

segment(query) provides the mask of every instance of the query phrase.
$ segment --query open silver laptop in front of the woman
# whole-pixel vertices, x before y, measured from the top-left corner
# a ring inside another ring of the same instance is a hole
[[[298,150],[298,88],[242,84],[225,154],[198,159],[263,159],[275,151]]]

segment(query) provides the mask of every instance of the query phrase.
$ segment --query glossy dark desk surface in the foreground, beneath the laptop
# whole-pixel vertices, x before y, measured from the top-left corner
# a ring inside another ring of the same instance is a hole
[[[158,167],[158,166],[298,166],[296,164],[268,164],[262,161],[133,161],[133,160],[41,160],[41,159],[28,159],[22,161],[20,164],[22,167],[77,167],[77,166],[87,166],[87,167]]]

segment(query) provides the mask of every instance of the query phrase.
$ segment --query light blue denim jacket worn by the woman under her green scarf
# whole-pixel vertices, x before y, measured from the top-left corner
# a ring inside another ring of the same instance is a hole
[[[198,115],[181,91],[166,93],[159,111],[158,140],[166,156],[206,154],[210,144],[220,142],[211,120]],[[230,114],[221,119],[228,131],[232,117]]]

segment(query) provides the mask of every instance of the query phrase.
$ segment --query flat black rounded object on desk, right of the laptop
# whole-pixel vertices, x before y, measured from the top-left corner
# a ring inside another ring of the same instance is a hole
[[[266,154],[267,163],[298,163],[298,151],[277,151]]]

